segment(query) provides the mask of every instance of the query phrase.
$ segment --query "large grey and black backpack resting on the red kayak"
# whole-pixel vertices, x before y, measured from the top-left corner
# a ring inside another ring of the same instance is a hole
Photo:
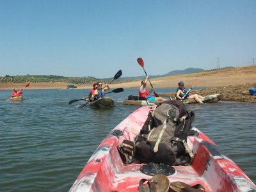
[[[186,140],[193,120],[195,113],[180,100],[158,104],[134,140],[132,157],[141,163],[189,164],[193,154]]]

